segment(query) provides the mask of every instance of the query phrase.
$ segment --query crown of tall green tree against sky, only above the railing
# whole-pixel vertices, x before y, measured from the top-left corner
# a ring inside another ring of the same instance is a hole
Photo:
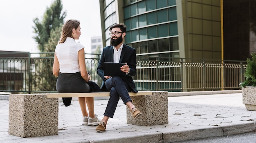
[[[33,38],[38,43],[38,50],[40,52],[46,52],[45,44],[48,43],[51,31],[64,24],[63,20],[66,17],[66,12],[62,13],[62,9],[61,0],[55,0],[49,8],[47,7],[42,22],[40,22],[38,17],[33,20],[35,24],[33,29],[36,34]]]

